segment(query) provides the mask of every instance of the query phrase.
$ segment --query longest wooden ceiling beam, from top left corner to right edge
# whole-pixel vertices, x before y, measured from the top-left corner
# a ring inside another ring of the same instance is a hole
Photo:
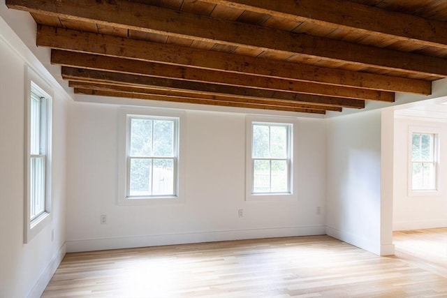
[[[65,17],[74,21],[93,22],[149,33],[162,33],[223,45],[252,49],[262,48],[279,54],[303,54],[308,57],[323,57],[331,61],[349,61],[352,64],[387,70],[403,70],[447,77],[447,59],[346,43],[341,40],[318,38],[306,34],[293,34],[268,27],[183,13],[142,3],[119,0],[111,2],[66,0],[63,3],[45,0],[6,0],[6,4],[9,8]]]

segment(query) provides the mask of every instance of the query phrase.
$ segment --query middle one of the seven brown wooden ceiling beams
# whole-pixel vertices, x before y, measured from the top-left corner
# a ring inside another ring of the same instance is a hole
[[[386,91],[328,86],[312,82],[281,80],[272,77],[256,77],[254,75],[242,75],[237,73],[223,74],[216,70],[154,64],[152,62],[105,57],[102,55],[84,54],[79,52],[52,50],[51,62],[52,64],[61,66],[108,70],[118,73],[147,75],[151,77],[175,78],[177,80],[208,82],[210,84],[223,84],[343,98],[380,100],[387,102],[394,101],[394,94]]]

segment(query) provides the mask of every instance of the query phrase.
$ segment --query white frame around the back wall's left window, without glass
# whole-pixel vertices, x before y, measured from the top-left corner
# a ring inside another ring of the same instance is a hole
[[[129,164],[130,164],[130,119],[174,119],[175,128],[175,177],[174,195],[130,196],[129,195]],[[119,161],[118,161],[118,198],[119,205],[145,205],[145,204],[182,204],[184,203],[184,172],[185,172],[185,142],[186,131],[184,112],[171,110],[147,109],[144,107],[134,109],[122,107],[119,111]]]

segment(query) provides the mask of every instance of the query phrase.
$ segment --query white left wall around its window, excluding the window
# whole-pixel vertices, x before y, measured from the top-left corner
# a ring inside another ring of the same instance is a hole
[[[35,68],[9,33],[0,17],[0,297],[39,297],[65,253],[66,100],[54,89],[52,222],[24,244],[24,100]]]

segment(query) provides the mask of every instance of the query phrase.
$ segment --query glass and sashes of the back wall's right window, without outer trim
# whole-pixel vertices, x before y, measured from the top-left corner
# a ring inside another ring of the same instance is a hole
[[[252,194],[291,192],[291,124],[252,123]]]

